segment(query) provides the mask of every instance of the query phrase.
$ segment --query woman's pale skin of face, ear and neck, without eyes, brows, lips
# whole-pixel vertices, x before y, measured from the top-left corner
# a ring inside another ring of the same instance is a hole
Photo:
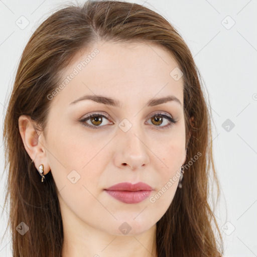
[[[154,203],[150,198],[122,203],[103,189],[141,181],[154,188],[154,196],[179,171],[186,159],[183,77],[176,81],[170,76],[178,63],[160,46],[98,42],[74,56],[63,78],[95,48],[99,53],[51,100],[44,133],[38,135],[30,117],[22,115],[21,137],[37,170],[44,164],[44,174],[52,172],[57,185],[63,257],[157,256],[156,223],[170,206],[178,180]],[[92,100],[70,104],[86,94],[115,98],[121,108]],[[146,106],[167,95],[176,96],[181,105],[169,101]],[[110,115],[102,118],[100,129],[78,121],[93,112]],[[177,123],[158,130],[170,121],[153,123],[157,112],[170,114]],[[132,124],[127,132],[118,126],[124,118]],[[75,180],[80,176],[74,184],[67,178],[73,170]],[[123,222],[131,227],[127,234],[119,230]]]

